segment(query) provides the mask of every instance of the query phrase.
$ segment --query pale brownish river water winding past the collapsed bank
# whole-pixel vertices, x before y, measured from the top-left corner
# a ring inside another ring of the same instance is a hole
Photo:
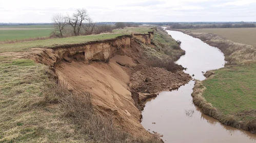
[[[216,47],[182,32],[167,31],[175,40],[182,41],[186,51],[176,63],[187,67],[186,73],[204,80],[202,71],[224,67],[224,55]],[[222,125],[203,114],[192,102],[194,81],[175,91],[161,92],[146,103],[142,112],[143,127],[157,132],[165,142],[256,142],[256,135]],[[155,124],[152,124],[155,123]]]

